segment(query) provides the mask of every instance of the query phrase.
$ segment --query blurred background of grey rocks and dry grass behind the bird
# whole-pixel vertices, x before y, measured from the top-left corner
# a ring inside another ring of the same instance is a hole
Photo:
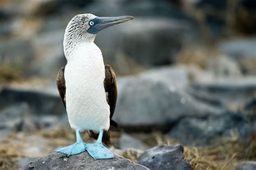
[[[0,168],[75,141],[56,75],[80,13],[135,17],[95,40],[118,76],[115,153],[181,144],[195,169],[256,160],[256,1],[0,0]]]

